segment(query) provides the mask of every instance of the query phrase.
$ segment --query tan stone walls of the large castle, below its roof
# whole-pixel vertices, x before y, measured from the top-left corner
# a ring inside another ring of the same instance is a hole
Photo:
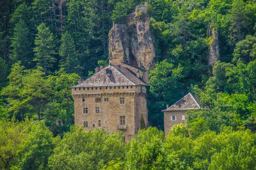
[[[88,128],[84,130],[95,130],[96,128],[105,128],[107,132],[118,132],[118,125],[120,124],[120,116],[125,116],[125,124],[127,129],[122,130],[125,134],[125,141],[130,141],[137,133],[138,114],[145,115],[147,121],[147,109],[145,103],[145,94],[141,94],[141,87],[145,86],[114,86],[108,87],[87,87],[72,88],[72,96],[75,102],[75,124],[84,126],[84,121],[88,122]],[[110,89],[111,88],[111,89]],[[146,91],[144,91],[146,92]],[[138,97],[139,96],[139,97]],[[84,102],[82,99],[84,98]],[[101,98],[101,102],[96,102],[96,98]],[[104,101],[108,98],[108,101]],[[120,98],[125,98],[125,104],[120,104]],[[139,98],[139,99],[138,99]],[[136,102],[140,101],[140,104]],[[145,105],[144,105],[145,104]],[[139,107],[138,107],[139,105]],[[88,108],[88,113],[83,113],[83,107]],[[100,113],[96,114],[95,107],[100,107]],[[137,112],[138,109],[138,112]],[[146,112],[146,113],[145,113]],[[139,117],[140,118],[140,117]],[[101,127],[99,127],[99,120],[101,120]],[[95,127],[93,127],[95,124]]]

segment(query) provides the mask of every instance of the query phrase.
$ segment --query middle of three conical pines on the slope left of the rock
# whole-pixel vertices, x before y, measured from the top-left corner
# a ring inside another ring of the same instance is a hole
[[[35,48],[33,50],[35,58],[33,61],[37,62],[37,66],[42,66],[44,72],[50,73],[53,63],[56,62],[54,37],[44,23],[41,23],[37,29],[38,34],[35,37]]]

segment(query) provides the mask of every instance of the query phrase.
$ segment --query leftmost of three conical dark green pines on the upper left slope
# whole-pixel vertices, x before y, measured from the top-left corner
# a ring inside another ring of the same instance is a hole
[[[21,61],[23,66],[28,66],[33,58],[33,51],[30,47],[31,42],[29,40],[29,29],[26,26],[24,20],[20,19],[14,28],[14,35],[11,38],[12,50],[10,58],[14,63]]]

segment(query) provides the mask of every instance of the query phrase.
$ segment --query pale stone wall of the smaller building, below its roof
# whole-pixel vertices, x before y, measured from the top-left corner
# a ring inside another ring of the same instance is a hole
[[[182,120],[182,116],[186,115],[186,111],[165,111],[164,117],[164,135],[166,136],[175,124],[185,124],[186,121]],[[172,120],[172,116],[176,116],[176,120]]]

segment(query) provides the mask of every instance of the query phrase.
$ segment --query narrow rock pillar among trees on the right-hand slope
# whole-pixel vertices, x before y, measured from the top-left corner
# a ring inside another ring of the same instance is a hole
[[[213,41],[210,45],[209,49],[209,60],[208,64],[211,66],[214,66],[214,64],[218,61],[220,55],[219,55],[219,41],[218,41],[218,32],[213,28],[208,29],[209,36],[213,38]]]

